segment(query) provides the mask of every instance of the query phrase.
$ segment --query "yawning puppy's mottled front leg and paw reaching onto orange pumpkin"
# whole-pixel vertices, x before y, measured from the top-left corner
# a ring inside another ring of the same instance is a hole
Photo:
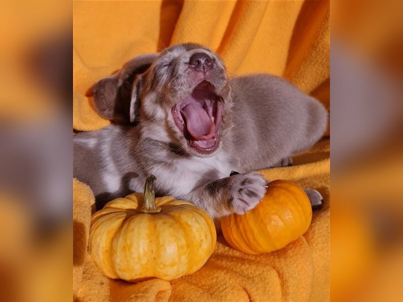
[[[263,198],[266,183],[258,173],[237,174],[199,187],[185,200],[205,209],[213,218],[244,214]]]

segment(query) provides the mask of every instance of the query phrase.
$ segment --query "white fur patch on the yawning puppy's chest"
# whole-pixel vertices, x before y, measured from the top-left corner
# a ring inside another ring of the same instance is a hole
[[[228,177],[233,168],[225,157],[216,156],[183,159],[175,162],[169,170],[164,173],[166,185],[172,194],[180,196],[208,182]]]

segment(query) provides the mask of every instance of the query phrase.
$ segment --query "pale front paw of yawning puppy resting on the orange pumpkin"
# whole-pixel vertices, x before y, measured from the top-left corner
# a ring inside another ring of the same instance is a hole
[[[228,202],[232,211],[244,214],[253,209],[266,192],[266,180],[258,173],[231,176]]]

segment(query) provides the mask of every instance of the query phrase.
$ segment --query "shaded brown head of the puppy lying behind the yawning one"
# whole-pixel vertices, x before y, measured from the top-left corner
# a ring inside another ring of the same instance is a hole
[[[133,83],[139,83],[137,75],[145,72],[157,56],[157,53],[137,56],[121,70],[96,83],[92,92],[98,114],[118,123],[134,122],[139,104],[136,102],[138,87],[133,87]]]

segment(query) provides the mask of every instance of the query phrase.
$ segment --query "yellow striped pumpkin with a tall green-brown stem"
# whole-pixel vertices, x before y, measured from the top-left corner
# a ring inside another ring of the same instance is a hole
[[[109,278],[172,280],[195,272],[213,253],[209,214],[173,197],[155,198],[154,180],[147,179],[144,195],[112,200],[92,217],[90,252]]]

